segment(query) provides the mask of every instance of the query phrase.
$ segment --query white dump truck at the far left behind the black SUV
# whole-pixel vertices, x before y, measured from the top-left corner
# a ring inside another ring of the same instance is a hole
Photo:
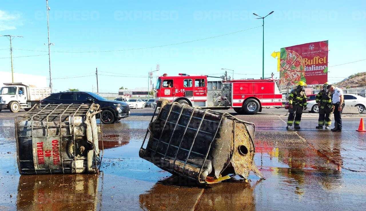
[[[18,112],[20,108],[29,111],[40,100],[51,94],[49,87],[33,87],[23,83],[4,83],[0,90],[0,112],[9,109]]]

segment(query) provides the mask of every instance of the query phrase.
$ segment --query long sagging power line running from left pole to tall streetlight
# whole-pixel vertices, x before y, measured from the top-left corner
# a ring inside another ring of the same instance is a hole
[[[243,29],[243,30],[239,30],[239,31],[230,32],[230,33],[227,33],[227,34],[220,34],[220,35],[213,36],[213,37],[206,37],[206,38],[202,38],[202,39],[195,39],[195,40],[191,40],[191,41],[184,41],[184,42],[172,43],[172,44],[167,44],[167,45],[159,45],[159,46],[150,46],[150,47],[133,48],[133,49],[122,49],[122,50],[101,50],[101,51],[51,51],[51,52],[55,52],[55,53],[102,53],[102,52],[117,52],[117,51],[128,51],[128,50],[144,50],[144,49],[150,49],[150,48],[166,47],[166,46],[172,46],[172,45],[180,45],[180,44],[184,44],[184,43],[197,42],[197,41],[202,41],[202,40],[206,40],[206,39],[213,39],[213,38],[217,38],[217,37],[223,37],[223,36],[226,36],[226,35],[231,35],[231,34],[236,34],[236,33],[243,32],[243,31],[252,30],[252,29],[254,29],[254,28],[258,28],[258,27],[262,27],[262,26],[257,26],[257,27],[253,27],[253,28],[247,28],[247,29]],[[37,51],[37,52],[48,52],[48,51],[42,51],[42,50],[29,50],[29,49],[16,49],[16,50]]]

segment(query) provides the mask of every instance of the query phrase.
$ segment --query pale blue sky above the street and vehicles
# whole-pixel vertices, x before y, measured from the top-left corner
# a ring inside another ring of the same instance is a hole
[[[56,1],[49,0],[52,51],[105,51],[168,45],[261,26],[265,19],[265,76],[276,72],[270,54],[281,47],[329,40],[329,66],[366,58],[365,1]],[[13,56],[47,51],[44,0],[1,0],[0,35],[13,40]],[[9,47],[0,37],[0,49]],[[25,49],[25,50],[16,50]],[[9,57],[0,50],[0,58]],[[262,71],[262,28],[197,42],[142,50],[98,53],[51,53],[54,89],[96,87],[116,92],[121,86],[146,87],[147,72],[160,64],[160,73],[216,74],[234,69],[234,78],[259,78]],[[329,67],[336,82],[365,72],[366,61]],[[0,71],[10,71],[10,59],[0,59]],[[14,71],[48,76],[48,56],[14,58]],[[106,73],[111,72],[111,73]],[[102,75],[105,76],[102,76]],[[124,74],[124,75],[123,75]],[[109,75],[109,76],[106,76]],[[87,76],[64,78],[70,76]],[[119,77],[120,76],[120,77]],[[124,76],[124,77],[121,77]],[[11,79],[10,79],[11,80]],[[95,90],[94,90],[95,91]]]

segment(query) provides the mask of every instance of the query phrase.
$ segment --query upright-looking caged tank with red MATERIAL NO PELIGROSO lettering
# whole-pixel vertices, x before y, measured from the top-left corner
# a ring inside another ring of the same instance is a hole
[[[98,173],[98,104],[34,105],[15,117],[20,174]],[[103,147],[101,147],[103,151]]]

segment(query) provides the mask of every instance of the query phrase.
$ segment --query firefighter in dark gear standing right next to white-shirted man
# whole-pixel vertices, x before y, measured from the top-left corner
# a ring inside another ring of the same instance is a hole
[[[323,85],[323,89],[315,97],[315,102],[317,102],[319,106],[319,125],[316,128],[323,129],[323,126],[325,125],[325,129],[329,129],[329,126],[332,123],[329,115],[332,112],[333,105],[332,95],[328,91],[328,83]]]

